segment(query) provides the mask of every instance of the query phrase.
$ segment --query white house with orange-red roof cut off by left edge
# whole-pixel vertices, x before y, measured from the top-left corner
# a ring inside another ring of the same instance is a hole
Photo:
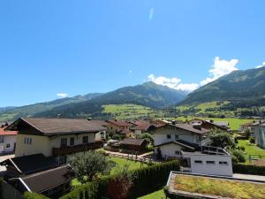
[[[5,131],[3,126],[0,128],[0,155],[13,153],[16,149],[16,131]]]

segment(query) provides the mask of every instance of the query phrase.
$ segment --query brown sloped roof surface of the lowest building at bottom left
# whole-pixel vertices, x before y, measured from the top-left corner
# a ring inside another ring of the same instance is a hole
[[[24,181],[30,191],[42,193],[72,180],[71,170],[72,168],[69,165],[64,165],[44,172],[27,175],[22,177],[21,180]]]

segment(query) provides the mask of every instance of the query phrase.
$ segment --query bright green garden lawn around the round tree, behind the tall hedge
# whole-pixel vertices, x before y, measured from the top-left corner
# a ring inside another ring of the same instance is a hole
[[[145,167],[147,166],[146,164],[141,164],[140,162],[134,162],[132,160],[127,160],[127,159],[124,159],[124,158],[119,158],[119,157],[110,157],[111,160],[113,160],[117,165],[112,168],[110,174],[115,174],[119,169],[120,167],[124,166],[124,165],[129,165],[129,170],[134,170],[134,169],[139,169],[141,167]],[[73,179],[72,180],[72,186],[79,186],[81,185],[79,183],[79,181],[77,179]]]

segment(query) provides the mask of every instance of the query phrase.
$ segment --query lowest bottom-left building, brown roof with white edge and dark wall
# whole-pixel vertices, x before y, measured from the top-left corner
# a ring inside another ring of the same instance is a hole
[[[57,198],[71,190],[71,172],[70,165],[62,165],[19,178],[12,178],[8,180],[8,183],[21,193],[28,191]]]

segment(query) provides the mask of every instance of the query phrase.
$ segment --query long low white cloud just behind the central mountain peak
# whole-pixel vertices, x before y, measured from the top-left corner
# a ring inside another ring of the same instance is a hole
[[[148,81],[153,81],[158,85],[163,85],[169,88],[174,88],[174,89],[182,90],[186,92],[191,92],[194,89],[199,87],[199,85],[195,83],[191,83],[191,84],[180,83],[181,80],[178,78],[167,78],[163,76],[155,77],[154,74],[148,75]]]

